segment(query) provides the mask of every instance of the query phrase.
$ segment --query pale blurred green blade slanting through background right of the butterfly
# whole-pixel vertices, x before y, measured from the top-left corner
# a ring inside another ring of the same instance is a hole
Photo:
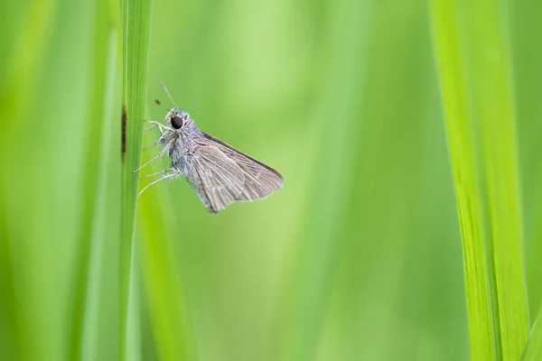
[[[355,158],[355,146],[358,142],[358,122],[354,121],[357,109],[350,104],[357,101],[350,98],[351,94],[358,94],[356,90],[362,87],[367,71],[367,63],[362,54],[368,48],[369,34],[372,21],[367,14],[371,14],[372,3],[369,1],[352,2],[347,5],[333,7],[329,16],[341,19],[346,24],[344,28],[336,28],[332,32],[331,42],[326,43],[327,49],[332,49],[334,56],[345,57],[347,60],[333,62],[336,66],[329,71],[332,88],[348,89],[345,93],[331,91],[324,93],[319,104],[319,115],[329,110],[329,104],[335,104],[333,117],[349,119],[334,125],[330,134],[327,125],[327,116],[322,116],[320,124],[321,144],[325,144],[316,151],[313,165],[314,176],[308,187],[312,190],[307,208],[305,243],[298,245],[293,252],[292,279],[288,279],[286,286],[290,299],[283,310],[284,316],[279,319],[288,319],[291,325],[280,337],[285,347],[275,359],[284,360],[313,360],[318,353],[318,338],[322,332],[322,324],[330,304],[330,294],[325,292],[331,287],[339,258],[339,242],[337,234],[343,226],[345,214],[331,213],[330,208],[345,209],[350,200],[352,169],[348,166]],[[355,42],[348,42],[348,33],[356,33]],[[332,181],[320,177],[322,163],[329,164],[326,171],[333,174]],[[277,350],[278,351],[278,350]]]

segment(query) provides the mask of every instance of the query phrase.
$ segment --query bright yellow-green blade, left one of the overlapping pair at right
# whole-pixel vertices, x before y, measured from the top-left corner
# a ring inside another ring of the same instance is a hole
[[[433,1],[431,16],[436,60],[440,69],[448,148],[453,168],[457,208],[463,241],[465,292],[469,315],[472,359],[493,358],[495,339],[491,322],[490,282],[483,240],[479,175],[475,162],[474,135],[470,124],[465,64],[454,8],[449,1]]]

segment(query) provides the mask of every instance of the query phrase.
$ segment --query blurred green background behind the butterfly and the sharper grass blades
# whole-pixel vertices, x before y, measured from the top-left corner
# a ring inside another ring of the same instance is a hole
[[[120,5],[3,8],[0,359],[117,359]],[[531,318],[540,14],[509,2]],[[423,0],[154,0],[145,117],[164,118],[164,81],[201,130],[285,185],[219,216],[184,180],[145,192],[128,359],[469,358],[430,28]]]

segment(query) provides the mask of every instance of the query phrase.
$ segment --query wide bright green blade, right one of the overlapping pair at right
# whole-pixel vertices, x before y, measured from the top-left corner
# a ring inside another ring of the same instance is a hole
[[[487,215],[499,300],[500,342],[505,360],[516,360],[528,338],[524,280],[519,157],[511,72],[508,8],[477,2],[472,11],[472,81],[481,130]]]

